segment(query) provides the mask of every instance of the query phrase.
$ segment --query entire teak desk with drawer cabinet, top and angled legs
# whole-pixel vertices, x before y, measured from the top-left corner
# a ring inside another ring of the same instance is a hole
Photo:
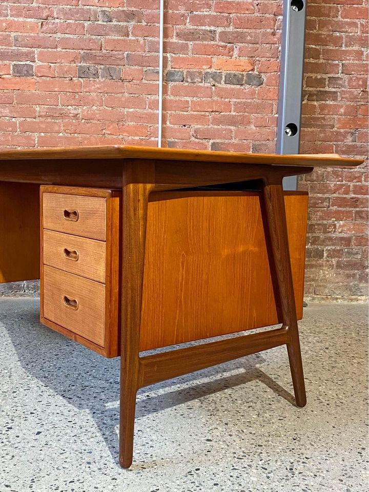
[[[297,319],[308,197],[283,194],[282,180],[361,163],[130,146],[0,151],[0,282],[40,278],[44,324],[120,356],[122,467],[141,387],[285,345],[296,405],[306,404]],[[171,347],[191,340],[202,341]],[[158,347],[169,349],[145,352]]]

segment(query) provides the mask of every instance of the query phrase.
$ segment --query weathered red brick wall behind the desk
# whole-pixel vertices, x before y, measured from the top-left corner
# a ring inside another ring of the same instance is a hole
[[[156,145],[158,0],[0,5],[0,146]],[[163,145],[274,152],[281,1],[169,0]],[[302,152],[366,154],[364,0],[310,0]],[[367,168],[317,170],[306,294],[366,294]]]

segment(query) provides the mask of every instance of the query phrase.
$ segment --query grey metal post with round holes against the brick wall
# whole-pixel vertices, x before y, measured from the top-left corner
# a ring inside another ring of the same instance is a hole
[[[277,154],[300,152],[305,24],[306,0],[283,0]],[[284,178],[283,188],[297,190],[297,176]]]

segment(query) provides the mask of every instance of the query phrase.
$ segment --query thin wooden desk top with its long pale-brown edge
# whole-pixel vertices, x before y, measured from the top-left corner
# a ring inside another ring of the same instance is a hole
[[[167,149],[136,146],[98,146],[47,149],[0,150],[1,160],[43,159],[164,159],[198,162],[232,162],[273,166],[355,167],[363,159],[349,159],[336,154],[278,155],[218,152],[207,150]]]

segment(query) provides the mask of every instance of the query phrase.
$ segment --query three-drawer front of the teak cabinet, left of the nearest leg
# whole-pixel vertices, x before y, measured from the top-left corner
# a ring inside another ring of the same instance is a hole
[[[40,210],[41,322],[118,356],[120,192],[44,185]]]

